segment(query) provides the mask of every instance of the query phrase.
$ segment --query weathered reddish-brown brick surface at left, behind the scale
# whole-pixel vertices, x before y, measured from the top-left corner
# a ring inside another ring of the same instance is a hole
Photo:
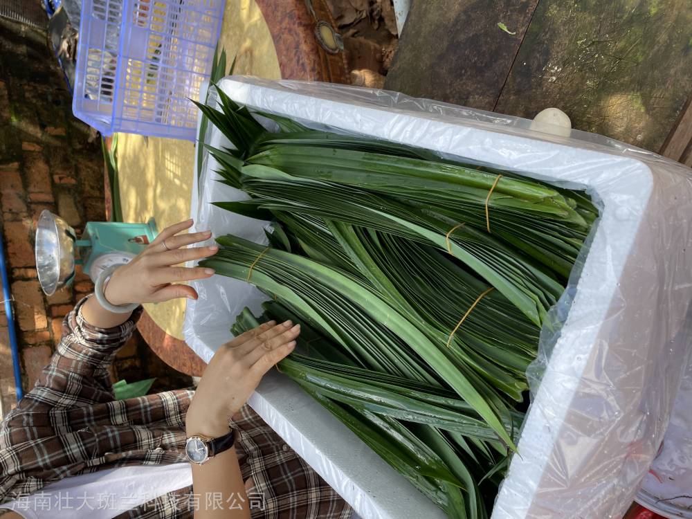
[[[78,271],[73,286],[44,295],[33,251],[36,219],[48,209],[80,233],[86,221],[105,218],[100,138],[73,117],[71,101],[46,33],[0,19],[0,218],[25,391],[48,363],[66,313],[93,290],[89,277]],[[158,376],[156,388],[189,383],[135,336],[120,352],[113,377],[136,381],[147,376]],[[15,403],[15,384],[4,309],[0,394],[3,412],[8,412]]]

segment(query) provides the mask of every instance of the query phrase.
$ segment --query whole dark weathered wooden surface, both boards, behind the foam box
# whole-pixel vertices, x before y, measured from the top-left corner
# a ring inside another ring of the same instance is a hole
[[[692,92],[692,5],[417,1],[397,53],[388,89],[525,118],[557,107],[575,128],[659,152]]]

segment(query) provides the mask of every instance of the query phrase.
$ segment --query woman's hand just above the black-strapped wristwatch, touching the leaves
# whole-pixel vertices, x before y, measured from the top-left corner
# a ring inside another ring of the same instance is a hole
[[[194,392],[185,417],[188,436],[228,433],[230,417],[244,406],[262,376],[293,351],[299,334],[300,325],[270,321],[221,346]]]

